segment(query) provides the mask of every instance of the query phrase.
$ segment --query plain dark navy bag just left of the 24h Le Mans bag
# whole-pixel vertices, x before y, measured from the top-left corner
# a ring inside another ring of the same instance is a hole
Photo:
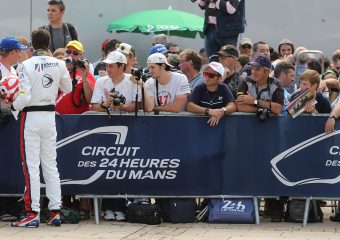
[[[192,198],[162,199],[161,209],[164,222],[193,223],[196,220],[196,201]]]

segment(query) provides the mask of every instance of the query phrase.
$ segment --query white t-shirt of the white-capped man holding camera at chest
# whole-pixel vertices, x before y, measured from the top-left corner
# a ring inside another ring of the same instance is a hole
[[[142,98],[140,86],[133,83],[130,80],[130,76],[130,74],[124,74],[123,80],[117,85],[113,84],[112,79],[109,76],[98,78],[96,85],[94,86],[91,103],[101,104],[102,102],[105,102],[113,88],[126,98],[126,105],[135,102],[137,91],[138,102],[140,102]]]

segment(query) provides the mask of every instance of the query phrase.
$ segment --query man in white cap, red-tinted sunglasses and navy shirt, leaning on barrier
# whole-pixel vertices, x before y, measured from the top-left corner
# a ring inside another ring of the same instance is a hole
[[[211,62],[203,72],[205,82],[195,87],[189,96],[187,111],[211,116],[210,126],[215,126],[220,119],[236,111],[233,95],[229,88],[220,83],[224,74],[221,63]]]

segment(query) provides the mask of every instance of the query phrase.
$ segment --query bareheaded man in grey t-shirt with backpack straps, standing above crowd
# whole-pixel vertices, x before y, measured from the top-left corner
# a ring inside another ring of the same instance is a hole
[[[47,18],[50,22],[42,26],[51,35],[49,49],[53,53],[58,48],[64,48],[71,40],[78,40],[78,33],[74,25],[64,23],[65,4],[61,0],[50,0],[47,6]]]

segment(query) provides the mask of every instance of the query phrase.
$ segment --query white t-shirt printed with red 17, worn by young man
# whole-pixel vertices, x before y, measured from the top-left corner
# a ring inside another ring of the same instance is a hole
[[[175,100],[177,95],[190,94],[190,87],[187,77],[184,74],[170,72],[170,81],[166,85],[158,83],[158,98],[160,105],[167,105]],[[156,80],[150,78],[145,82],[149,96],[154,97],[155,105],[158,106],[156,92]]]

